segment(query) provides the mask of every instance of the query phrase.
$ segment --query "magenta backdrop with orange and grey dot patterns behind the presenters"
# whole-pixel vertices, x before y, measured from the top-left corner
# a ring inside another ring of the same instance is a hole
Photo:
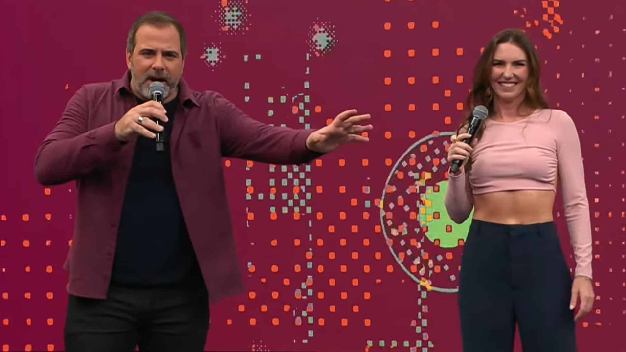
[[[68,0],[3,9],[3,351],[63,349],[74,184],[36,184],[34,153],[74,91],[121,77],[126,31],[149,9],[187,28],[184,76],[196,90],[220,91],[268,123],[317,128],[356,107],[375,125],[368,145],[309,168],[224,160],[247,286],[212,306],[207,349],[460,351],[454,291],[467,224],[446,232],[437,166],[481,47],[514,27],[538,47],[550,104],[572,115],[582,143],[598,298],[577,323],[580,351],[626,351],[622,1]],[[415,182],[424,187],[416,192]],[[573,266],[560,214],[557,205]]]

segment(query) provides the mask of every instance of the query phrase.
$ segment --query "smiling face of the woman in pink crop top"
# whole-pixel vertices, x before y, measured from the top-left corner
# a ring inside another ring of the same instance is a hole
[[[510,103],[524,100],[528,80],[528,58],[512,43],[498,44],[491,66],[491,89],[496,101]]]

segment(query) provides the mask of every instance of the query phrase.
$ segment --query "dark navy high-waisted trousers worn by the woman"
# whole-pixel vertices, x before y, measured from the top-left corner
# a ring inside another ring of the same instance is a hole
[[[575,352],[572,276],[553,222],[474,219],[461,257],[458,305],[463,352]]]

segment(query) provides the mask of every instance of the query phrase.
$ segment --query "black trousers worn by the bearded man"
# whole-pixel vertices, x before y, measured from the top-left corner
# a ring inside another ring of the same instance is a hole
[[[110,287],[106,299],[69,296],[65,351],[200,352],[208,325],[204,287]]]

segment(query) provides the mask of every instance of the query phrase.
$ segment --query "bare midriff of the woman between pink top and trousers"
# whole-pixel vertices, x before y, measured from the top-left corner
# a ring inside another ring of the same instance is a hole
[[[555,192],[515,190],[474,195],[474,219],[497,224],[539,224],[553,220]]]

